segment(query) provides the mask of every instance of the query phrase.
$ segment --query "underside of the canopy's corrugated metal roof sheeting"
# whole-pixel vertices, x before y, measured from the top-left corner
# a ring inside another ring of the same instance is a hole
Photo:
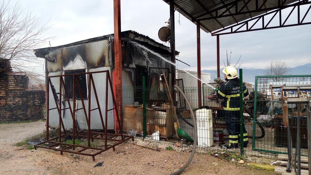
[[[163,1],[170,4],[169,0]],[[283,5],[287,5],[298,1],[283,0],[280,2],[282,2]],[[199,19],[215,17],[216,11],[218,15],[230,15],[230,13],[235,12],[235,6],[237,6],[238,9],[245,6],[241,11],[242,13],[244,12],[244,14],[200,20],[200,28],[207,33],[266,13],[266,11],[256,11],[256,0],[174,0],[174,3],[175,7],[177,7],[177,11],[195,24]],[[231,6],[233,8],[230,8]],[[279,7],[279,0],[258,0],[257,8],[258,6],[259,8],[262,6],[263,9]],[[227,10],[228,8],[230,8],[230,10]]]

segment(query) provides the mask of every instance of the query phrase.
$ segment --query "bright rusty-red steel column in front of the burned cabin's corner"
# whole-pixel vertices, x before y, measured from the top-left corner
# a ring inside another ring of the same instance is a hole
[[[113,70],[113,91],[115,92],[115,107],[118,111],[122,111],[122,57],[121,57],[121,7],[120,0],[113,0],[113,19],[114,19],[114,52],[115,52],[115,69]],[[120,121],[122,121],[122,115],[119,114]],[[118,123],[116,122],[117,115],[115,111],[115,130],[120,130]],[[106,126],[107,127],[107,126]]]

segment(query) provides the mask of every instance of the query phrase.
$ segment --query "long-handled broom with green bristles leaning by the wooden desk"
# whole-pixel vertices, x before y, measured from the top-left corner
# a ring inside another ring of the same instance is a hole
[[[167,93],[168,93],[168,102],[170,103],[170,106],[174,106],[173,105],[173,99],[172,99],[172,94],[169,90],[169,87],[168,87],[168,83],[167,83],[167,79],[166,79],[166,76],[165,76],[165,73],[163,73],[163,76],[164,76],[164,80],[165,80],[165,85],[166,85],[166,88],[167,88]],[[193,142],[193,139],[185,132],[181,129],[180,125],[179,125],[179,121],[178,121],[178,118],[177,118],[177,114],[176,114],[176,110],[175,108],[171,108],[171,110],[173,111],[173,116],[176,120],[176,122],[174,122],[174,128],[175,128],[175,131],[176,131],[176,136],[177,138],[180,137],[180,138],[184,138],[188,141],[191,141]],[[177,127],[176,127],[176,123],[177,123]]]

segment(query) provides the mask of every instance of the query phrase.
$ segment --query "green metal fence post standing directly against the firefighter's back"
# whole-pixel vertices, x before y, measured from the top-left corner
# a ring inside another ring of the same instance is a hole
[[[241,145],[240,145],[240,150],[241,150],[241,155],[244,152],[244,147],[243,147],[243,70],[239,69],[240,71],[240,140],[241,140]]]

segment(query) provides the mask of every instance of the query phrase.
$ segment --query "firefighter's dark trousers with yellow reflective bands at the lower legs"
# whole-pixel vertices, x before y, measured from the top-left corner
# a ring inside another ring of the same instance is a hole
[[[243,137],[243,147],[247,147],[248,135],[243,121],[243,133],[240,133],[240,111],[224,110],[226,128],[229,132],[229,146],[238,148],[240,137]]]

